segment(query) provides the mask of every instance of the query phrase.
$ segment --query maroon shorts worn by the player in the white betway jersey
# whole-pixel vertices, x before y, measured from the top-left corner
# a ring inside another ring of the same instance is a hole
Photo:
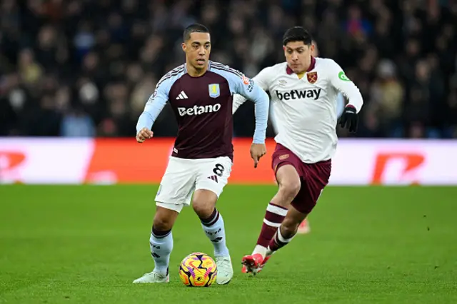
[[[292,206],[301,213],[310,213],[316,206],[321,191],[327,186],[331,172],[331,160],[303,163],[298,156],[281,143],[276,143],[271,158],[271,166],[275,175],[281,166],[292,165],[295,168],[300,176],[301,188],[297,196],[293,198]]]

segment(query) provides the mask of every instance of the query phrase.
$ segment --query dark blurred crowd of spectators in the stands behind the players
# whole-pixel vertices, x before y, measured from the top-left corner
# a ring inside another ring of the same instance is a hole
[[[304,26],[361,89],[351,136],[457,138],[456,0],[2,0],[0,136],[135,136],[193,22],[211,30],[212,60],[250,77],[284,61],[283,32]],[[253,128],[247,102],[235,135]],[[169,106],[153,130],[176,135]]]

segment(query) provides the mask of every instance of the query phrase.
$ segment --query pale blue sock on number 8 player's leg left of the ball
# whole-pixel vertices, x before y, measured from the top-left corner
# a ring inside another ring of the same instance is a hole
[[[169,273],[170,254],[173,250],[173,235],[168,233],[151,233],[149,238],[151,255],[154,258],[154,271],[161,275]]]

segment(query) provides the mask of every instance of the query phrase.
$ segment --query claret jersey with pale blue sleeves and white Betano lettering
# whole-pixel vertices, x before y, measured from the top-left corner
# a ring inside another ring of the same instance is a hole
[[[179,126],[172,156],[233,158],[233,93],[256,103],[253,142],[263,143],[268,120],[268,95],[241,72],[214,61],[209,61],[208,70],[199,77],[190,76],[186,64],[165,74],[146,103],[137,131],[151,128],[169,102]]]

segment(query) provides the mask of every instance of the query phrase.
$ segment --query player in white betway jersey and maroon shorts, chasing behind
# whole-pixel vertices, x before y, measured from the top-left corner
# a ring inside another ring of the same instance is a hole
[[[363,98],[332,59],[312,56],[311,35],[301,26],[283,36],[286,62],[263,69],[253,80],[271,95],[276,149],[272,168],[278,192],[266,208],[257,245],[242,259],[243,272],[260,272],[271,255],[287,245],[313,210],[328,183],[338,138],[338,92],[348,98],[340,125],[355,132]],[[235,96],[234,108],[246,98]]]

